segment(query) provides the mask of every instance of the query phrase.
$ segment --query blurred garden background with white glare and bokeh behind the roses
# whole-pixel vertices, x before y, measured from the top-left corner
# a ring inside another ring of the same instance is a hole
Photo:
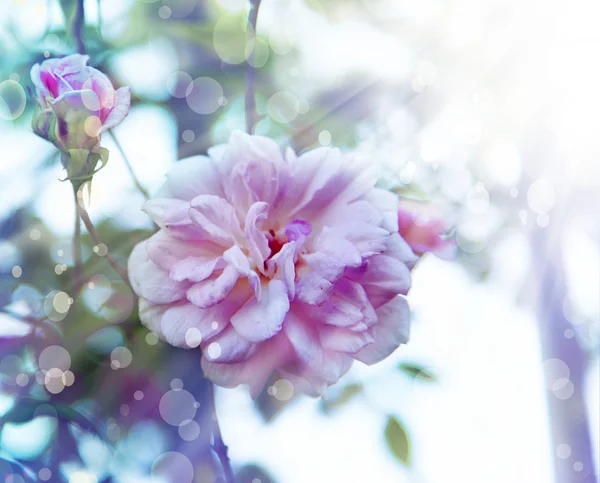
[[[459,249],[415,269],[410,343],[327,399],[217,389],[237,479],[598,481],[598,2],[263,0],[248,44],[244,0],[86,0],[90,64],[134,98],[73,304],[72,189],[27,92],[75,51],[76,4],[0,1],[0,481],[219,478],[199,356],[139,324],[104,257],[152,230],[123,153],[152,193],[244,129],[251,52],[258,134],[357,151]]]

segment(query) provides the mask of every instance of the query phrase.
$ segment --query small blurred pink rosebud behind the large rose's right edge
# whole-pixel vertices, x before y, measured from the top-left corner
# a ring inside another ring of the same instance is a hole
[[[398,208],[399,233],[416,255],[431,252],[440,258],[451,258],[454,254],[454,240],[447,239],[446,223],[440,218],[418,214],[405,206]]]

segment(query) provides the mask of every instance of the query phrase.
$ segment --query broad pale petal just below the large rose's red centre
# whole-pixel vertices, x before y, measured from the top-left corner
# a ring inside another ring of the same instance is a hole
[[[290,309],[285,284],[273,279],[262,289],[260,301],[251,298],[231,317],[238,333],[251,342],[261,342],[277,334]]]

